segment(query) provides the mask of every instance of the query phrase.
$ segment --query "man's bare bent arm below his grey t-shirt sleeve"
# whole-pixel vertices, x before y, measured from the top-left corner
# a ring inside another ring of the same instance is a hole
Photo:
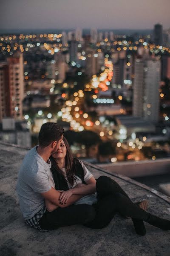
[[[60,194],[61,193],[54,189],[53,187],[48,192],[41,193],[42,197],[45,199],[45,206],[47,207],[47,210],[49,212],[54,211],[54,209],[57,209],[57,207],[68,207],[69,205],[74,204],[76,201],[83,197],[83,195],[71,195],[71,197],[65,204],[60,204]]]

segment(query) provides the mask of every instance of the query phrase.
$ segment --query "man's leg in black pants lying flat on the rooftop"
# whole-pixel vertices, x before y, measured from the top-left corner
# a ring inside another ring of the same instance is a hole
[[[85,224],[95,218],[96,211],[88,204],[70,205],[57,208],[52,212],[46,211],[39,221],[42,229],[56,229],[58,227]]]

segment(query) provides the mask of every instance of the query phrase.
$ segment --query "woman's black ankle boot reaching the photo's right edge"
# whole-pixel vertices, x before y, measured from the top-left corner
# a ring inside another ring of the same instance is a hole
[[[155,215],[149,214],[149,217],[146,222],[155,227],[159,227],[163,230],[170,230],[170,221],[163,218],[159,218]]]

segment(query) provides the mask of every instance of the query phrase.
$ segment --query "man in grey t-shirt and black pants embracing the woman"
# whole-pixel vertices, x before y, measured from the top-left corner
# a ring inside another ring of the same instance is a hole
[[[49,183],[52,178],[49,157],[58,150],[63,134],[64,129],[57,123],[43,124],[38,137],[39,145],[28,151],[18,175],[17,194],[25,222],[41,231],[49,228],[49,224],[48,228],[45,225],[41,227],[42,218],[50,218],[50,229],[55,229],[59,222],[63,225],[85,224],[95,217],[94,208],[90,205],[72,205],[83,195],[72,195],[66,204],[59,204],[60,192]],[[57,207],[50,214],[46,214],[45,200]]]

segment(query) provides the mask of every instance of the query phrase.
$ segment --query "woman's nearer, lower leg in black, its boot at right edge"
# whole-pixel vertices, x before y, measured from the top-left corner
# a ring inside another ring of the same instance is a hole
[[[96,218],[86,223],[85,226],[96,229],[106,227],[116,212],[134,218],[135,220],[145,221],[163,230],[170,230],[170,221],[144,211],[136,204],[133,204],[125,195],[118,192],[113,195],[107,195],[99,201],[99,204],[96,206]],[[144,235],[144,233],[140,233],[139,230],[139,235]]]

